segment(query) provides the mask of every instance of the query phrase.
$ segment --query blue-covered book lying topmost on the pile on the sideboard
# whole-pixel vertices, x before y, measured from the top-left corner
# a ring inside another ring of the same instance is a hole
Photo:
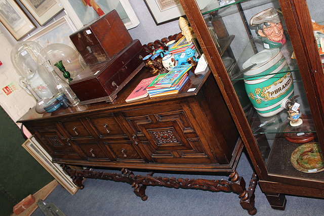
[[[180,79],[189,69],[190,64],[177,65],[170,70],[160,81],[155,84],[155,87],[170,88],[178,79]]]

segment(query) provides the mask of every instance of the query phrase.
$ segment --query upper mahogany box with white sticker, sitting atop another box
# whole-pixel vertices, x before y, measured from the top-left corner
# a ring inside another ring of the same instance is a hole
[[[113,59],[133,41],[115,10],[71,34],[70,39],[88,65]]]

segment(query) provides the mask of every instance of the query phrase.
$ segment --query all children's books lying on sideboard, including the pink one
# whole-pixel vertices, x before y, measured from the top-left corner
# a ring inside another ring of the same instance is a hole
[[[146,79],[142,79],[133,92],[126,98],[126,102],[177,94],[188,80],[187,71],[190,64],[175,66],[168,73],[159,74]]]

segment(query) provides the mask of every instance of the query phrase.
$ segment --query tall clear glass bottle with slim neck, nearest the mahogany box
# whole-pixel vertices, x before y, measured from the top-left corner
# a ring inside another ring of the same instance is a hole
[[[44,63],[42,63],[42,66],[52,75],[51,78],[53,80],[49,80],[49,82],[52,81],[55,83],[57,90],[59,91],[59,93],[63,93],[66,96],[70,106],[76,106],[80,102],[80,100],[76,97],[69,85],[55,73],[55,70],[50,62],[45,61]]]

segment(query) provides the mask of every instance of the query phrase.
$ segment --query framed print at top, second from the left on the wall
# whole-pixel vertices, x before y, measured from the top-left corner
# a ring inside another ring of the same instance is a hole
[[[39,25],[44,25],[63,10],[55,0],[20,0]]]

